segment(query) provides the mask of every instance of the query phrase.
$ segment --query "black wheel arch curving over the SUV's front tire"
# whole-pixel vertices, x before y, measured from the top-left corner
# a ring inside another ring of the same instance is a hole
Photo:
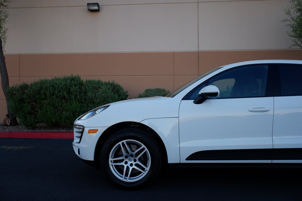
[[[151,135],[158,143],[161,153],[162,153],[162,166],[165,167],[168,165],[168,155],[167,155],[167,150],[165,147],[165,144],[161,137],[150,127],[138,123],[138,122],[121,122],[115,125],[112,125],[111,127],[107,128],[102,135],[100,136],[96,148],[95,148],[95,154],[94,154],[94,162],[95,165],[99,166],[99,158],[100,158],[100,150],[105,143],[105,141],[115,132],[120,131],[122,129],[139,129],[149,135]]]

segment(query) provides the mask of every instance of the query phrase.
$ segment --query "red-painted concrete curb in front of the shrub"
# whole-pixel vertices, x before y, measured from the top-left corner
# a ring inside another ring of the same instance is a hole
[[[0,138],[72,139],[73,132],[0,132]]]

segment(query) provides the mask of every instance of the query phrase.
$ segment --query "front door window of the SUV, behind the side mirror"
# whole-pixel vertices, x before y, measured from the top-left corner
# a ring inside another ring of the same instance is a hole
[[[195,99],[204,86],[215,85],[217,98],[241,98],[265,96],[268,65],[244,66],[224,71],[193,89],[184,99]]]

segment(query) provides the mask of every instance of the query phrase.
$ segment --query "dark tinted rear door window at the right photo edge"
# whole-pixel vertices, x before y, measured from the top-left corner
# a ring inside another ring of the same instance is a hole
[[[280,65],[281,96],[302,95],[302,65]]]

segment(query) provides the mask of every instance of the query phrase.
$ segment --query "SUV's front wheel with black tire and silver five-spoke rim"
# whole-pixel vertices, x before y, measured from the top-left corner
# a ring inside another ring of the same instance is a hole
[[[138,129],[124,129],[109,137],[100,153],[100,165],[115,184],[133,188],[156,179],[162,156],[157,142]]]

